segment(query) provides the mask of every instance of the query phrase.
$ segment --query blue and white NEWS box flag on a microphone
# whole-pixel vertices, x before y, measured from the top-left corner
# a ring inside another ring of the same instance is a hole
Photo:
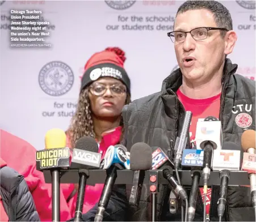
[[[185,149],[182,154],[182,166],[187,167],[202,167],[204,160],[203,150]]]

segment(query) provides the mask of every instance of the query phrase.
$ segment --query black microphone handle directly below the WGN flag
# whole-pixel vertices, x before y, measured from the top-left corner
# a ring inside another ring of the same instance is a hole
[[[79,173],[79,187],[78,187],[78,194],[77,194],[77,205],[75,206],[75,216],[74,216],[75,222],[82,221],[83,202],[85,200],[85,185],[86,185],[86,180],[89,177],[89,170],[79,169],[78,173]]]

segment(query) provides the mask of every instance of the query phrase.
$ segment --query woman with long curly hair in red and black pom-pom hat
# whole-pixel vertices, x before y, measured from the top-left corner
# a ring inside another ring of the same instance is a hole
[[[120,48],[106,48],[87,61],[77,110],[67,131],[69,147],[74,148],[82,136],[93,136],[98,142],[99,153],[104,157],[109,146],[120,143],[123,130],[121,110],[131,102],[130,80],[124,70],[125,59],[125,53]],[[103,186],[86,186],[83,214],[99,201]],[[75,186],[68,200],[72,216],[77,190]]]

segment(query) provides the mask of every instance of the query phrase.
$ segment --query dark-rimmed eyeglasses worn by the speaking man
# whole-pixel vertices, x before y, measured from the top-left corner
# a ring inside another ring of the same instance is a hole
[[[182,32],[182,31],[174,31],[168,32],[167,36],[171,38],[173,43],[182,43],[185,41],[187,33],[190,33],[194,40],[204,40],[208,37],[209,30],[225,30],[228,31],[226,28],[213,28],[213,27],[200,27],[192,29],[190,32]]]

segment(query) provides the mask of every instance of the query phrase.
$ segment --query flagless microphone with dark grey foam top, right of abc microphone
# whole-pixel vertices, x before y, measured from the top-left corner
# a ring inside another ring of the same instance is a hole
[[[152,149],[146,143],[135,143],[131,148],[130,166],[134,170],[129,204],[139,206],[145,170],[152,167]]]

